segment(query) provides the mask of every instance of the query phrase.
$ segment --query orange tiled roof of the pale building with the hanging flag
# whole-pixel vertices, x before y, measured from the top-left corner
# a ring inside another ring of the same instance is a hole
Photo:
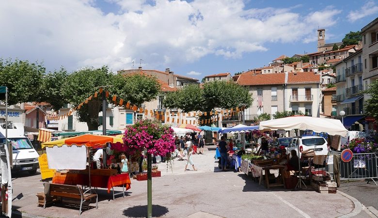
[[[236,83],[243,86],[284,84],[285,74],[256,74],[255,76],[241,74]]]

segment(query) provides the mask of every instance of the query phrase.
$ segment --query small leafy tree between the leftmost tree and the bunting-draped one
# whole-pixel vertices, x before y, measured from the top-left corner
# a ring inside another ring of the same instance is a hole
[[[48,102],[52,106],[52,109],[56,111],[61,109],[67,103],[61,91],[62,84],[65,82],[67,76],[67,71],[63,67],[60,70],[43,75],[38,101]]]

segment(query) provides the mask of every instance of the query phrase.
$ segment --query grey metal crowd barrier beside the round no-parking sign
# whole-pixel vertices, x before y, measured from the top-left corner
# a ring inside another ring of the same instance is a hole
[[[340,180],[370,179],[377,185],[374,179],[378,179],[378,157],[374,153],[353,154],[349,162],[340,158]]]

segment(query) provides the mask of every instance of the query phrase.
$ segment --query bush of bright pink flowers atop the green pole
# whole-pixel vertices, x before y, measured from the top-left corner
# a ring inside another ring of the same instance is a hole
[[[166,156],[176,148],[173,129],[151,120],[127,126],[123,140],[125,151],[129,154],[147,149],[148,154]]]

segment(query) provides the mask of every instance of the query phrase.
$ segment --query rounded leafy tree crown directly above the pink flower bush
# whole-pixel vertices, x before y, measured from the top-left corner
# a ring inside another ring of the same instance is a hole
[[[160,84],[154,77],[117,74],[113,79],[113,87],[110,87],[111,93],[138,106],[156,99],[160,92]]]

